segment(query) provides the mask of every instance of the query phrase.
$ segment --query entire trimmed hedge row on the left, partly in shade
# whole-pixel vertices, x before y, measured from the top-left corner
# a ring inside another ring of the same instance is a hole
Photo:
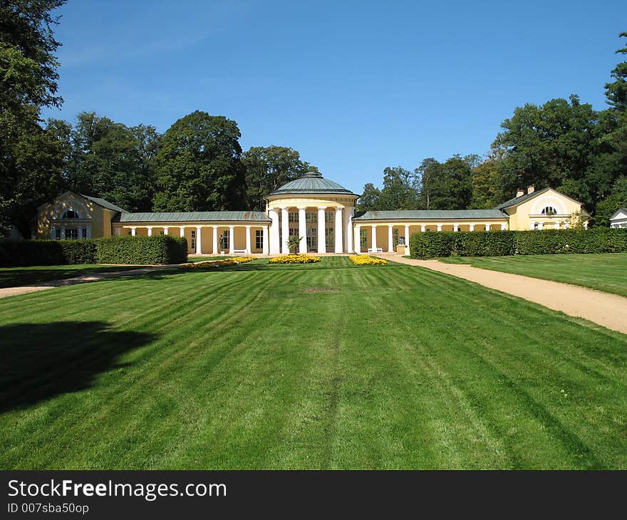
[[[81,240],[0,240],[0,266],[182,264],[187,241],[169,235]]]

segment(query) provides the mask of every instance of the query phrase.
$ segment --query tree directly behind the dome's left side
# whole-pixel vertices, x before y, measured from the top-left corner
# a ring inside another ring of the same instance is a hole
[[[246,203],[253,211],[265,209],[264,197],[274,189],[318,168],[301,161],[299,152],[284,146],[252,147],[242,153],[246,175]]]

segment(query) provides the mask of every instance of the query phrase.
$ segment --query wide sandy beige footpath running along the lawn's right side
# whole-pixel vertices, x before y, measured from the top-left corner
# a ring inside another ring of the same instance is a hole
[[[554,311],[584,318],[611,328],[612,331],[627,334],[627,298],[624,296],[519,274],[489,271],[467,264],[444,264],[438,260],[415,260],[391,255],[378,256],[400,264],[425,267],[474,281],[482,286],[539,303]]]

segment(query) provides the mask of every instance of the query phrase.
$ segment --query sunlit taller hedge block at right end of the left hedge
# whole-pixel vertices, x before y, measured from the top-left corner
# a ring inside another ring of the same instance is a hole
[[[187,240],[178,236],[112,236],[98,239],[98,264],[182,264]]]

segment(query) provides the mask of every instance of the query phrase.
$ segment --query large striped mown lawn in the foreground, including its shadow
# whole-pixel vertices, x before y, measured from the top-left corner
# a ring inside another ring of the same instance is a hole
[[[0,303],[2,469],[627,469],[627,336],[344,257]]]

